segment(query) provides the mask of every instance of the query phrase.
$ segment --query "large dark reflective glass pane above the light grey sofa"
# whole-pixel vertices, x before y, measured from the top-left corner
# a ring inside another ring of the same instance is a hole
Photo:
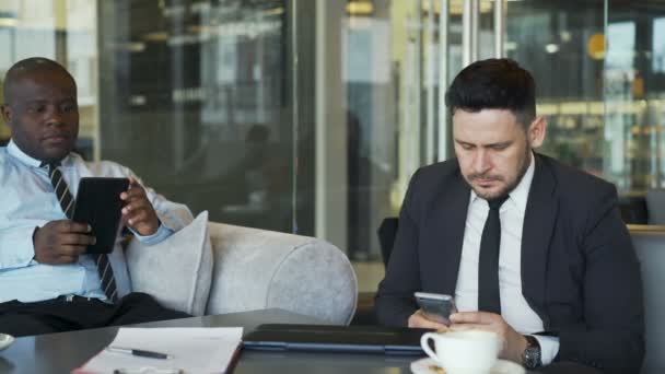
[[[211,220],[292,231],[288,4],[100,7],[101,156]]]

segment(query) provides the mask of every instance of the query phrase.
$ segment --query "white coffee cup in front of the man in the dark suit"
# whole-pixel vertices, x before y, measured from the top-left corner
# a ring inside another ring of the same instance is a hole
[[[435,351],[430,348],[430,340]],[[425,332],[420,346],[447,374],[490,373],[501,351],[499,336],[482,330]]]

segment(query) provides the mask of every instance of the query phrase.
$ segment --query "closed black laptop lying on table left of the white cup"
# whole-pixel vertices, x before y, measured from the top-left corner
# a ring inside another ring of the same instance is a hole
[[[428,329],[380,326],[260,325],[243,338],[250,350],[363,352],[422,355]]]

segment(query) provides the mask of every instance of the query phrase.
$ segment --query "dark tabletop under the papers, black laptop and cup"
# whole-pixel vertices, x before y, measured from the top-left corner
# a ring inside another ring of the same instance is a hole
[[[264,323],[324,324],[281,309],[232,313],[141,324],[141,327],[244,327],[245,334]],[[0,352],[0,373],[69,373],[108,346],[117,327],[18,338]],[[413,357],[359,353],[243,351],[234,374],[408,374]],[[569,367],[570,369],[570,367]],[[570,373],[570,371],[561,371]]]

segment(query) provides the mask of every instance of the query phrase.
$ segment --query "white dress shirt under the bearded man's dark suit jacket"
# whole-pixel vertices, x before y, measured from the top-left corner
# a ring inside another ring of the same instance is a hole
[[[542,319],[530,308],[522,294],[522,230],[528,191],[534,179],[535,160],[520,184],[510,192],[501,206],[501,244],[499,253],[499,292],[501,295],[501,316],[520,334],[542,331]],[[487,200],[478,197],[471,189],[455,303],[460,312],[478,309],[478,259],[482,229],[489,213]],[[550,363],[559,351],[559,338],[534,336],[541,349],[542,364]]]

